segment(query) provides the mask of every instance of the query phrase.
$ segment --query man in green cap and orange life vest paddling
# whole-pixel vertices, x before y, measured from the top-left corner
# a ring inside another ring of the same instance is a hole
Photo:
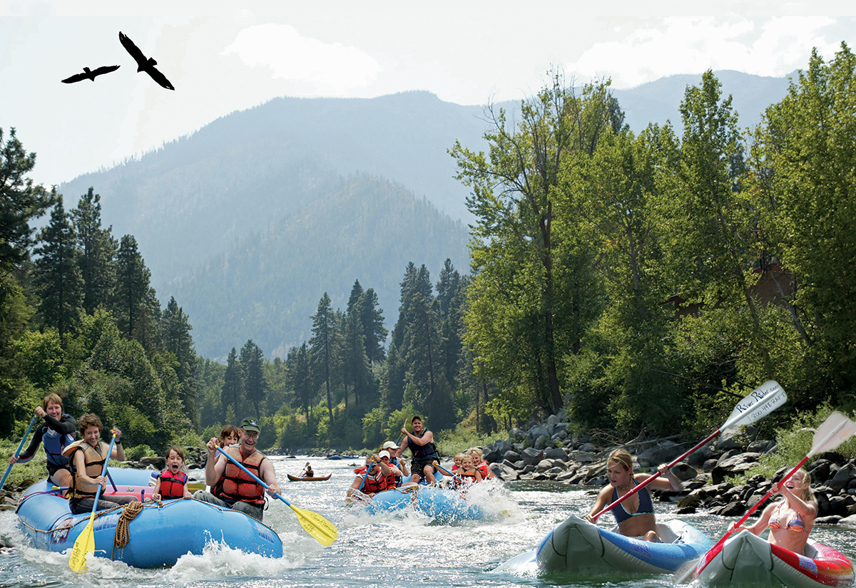
[[[229,447],[224,451],[262,479],[268,485],[270,496],[278,494],[279,484],[276,482],[273,465],[267,457],[256,450],[256,443],[259,441],[258,422],[247,417],[241,422],[238,432],[241,443],[237,447]],[[193,498],[204,503],[217,504],[224,509],[240,510],[252,516],[253,519],[262,520],[265,514],[265,487],[231,460],[220,459],[215,463],[214,456],[217,455],[218,443],[218,439],[212,437],[206,444],[208,462],[205,463],[205,484],[211,486],[211,493],[200,490],[193,495]]]

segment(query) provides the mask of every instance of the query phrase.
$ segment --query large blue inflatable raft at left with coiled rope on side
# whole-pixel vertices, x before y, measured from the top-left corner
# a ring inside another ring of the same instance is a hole
[[[147,495],[150,472],[110,468],[116,484],[111,493]],[[65,551],[74,546],[89,522],[89,513],[71,514],[68,500],[52,491],[47,480],[30,486],[18,503],[16,513],[24,532],[39,549]],[[269,526],[246,514],[221,509],[196,500],[169,500],[158,507],[146,503],[128,522],[128,544],[116,544],[116,523],[124,509],[101,510],[95,515],[95,556],[125,562],[134,567],[169,567],[187,554],[199,555],[209,542],[262,556],[282,557],[282,541]],[[120,533],[121,535],[122,533]]]

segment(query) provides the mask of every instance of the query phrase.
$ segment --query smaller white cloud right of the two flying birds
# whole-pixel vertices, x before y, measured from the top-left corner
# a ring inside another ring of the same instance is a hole
[[[363,51],[340,43],[301,37],[293,26],[248,26],[223,55],[235,54],[250,67],[270,68],[274,78],[302,82],[309,95],[347,96],[372,84],[380,65]]]

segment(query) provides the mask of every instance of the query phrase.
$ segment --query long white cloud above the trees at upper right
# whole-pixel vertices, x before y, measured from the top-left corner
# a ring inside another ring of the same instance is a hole
[[[823,34],[832,25],[828,16],[657,19],[619,41],[593,44],[565,70],[581,79],[609,76],[618,88],[706,69],[782,76],[805,68],[813,47],[832,56],[838,44]]]

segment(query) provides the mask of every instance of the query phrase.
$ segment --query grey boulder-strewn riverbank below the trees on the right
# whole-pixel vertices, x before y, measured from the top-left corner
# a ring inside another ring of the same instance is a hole
[[[641,434],[628,444],[597,446],[589,438],[572,436],[564,417],[551,415],[526,429],[510,430],[508,439],[484,448],[485,461],[503,480],[553,480],[600,488],[609,483],[606,458],[615,449],[623,447],[633,456],[635,472],[656,473],[659,464],[672,462],[698,443],[679,443],[677,438],[645,439]],[[764,453],[776,450],[773,441],[757,439],[757,435],[752,427],[743,432],[723,432],[672,468],[684,483],[683,491],[652,491],[652,496],[676,503],[677,514],[700,509],[730,517],[745,514],[770,490],[773,481],[761,475],[740,485],[728,481],[746,473]],[[774,479],[788,470],[782,467]],[[856,460],[846,460],[837,453],[821,454],[809,464],[809,473],[817,499],[817,523],[856,527]]]

